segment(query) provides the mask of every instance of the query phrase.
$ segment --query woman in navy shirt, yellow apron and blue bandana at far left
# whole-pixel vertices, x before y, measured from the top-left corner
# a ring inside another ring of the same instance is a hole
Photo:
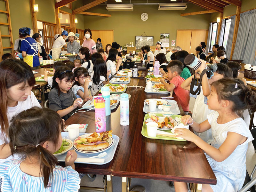
[[[39,56],[38,47],[36,40],[31,38],[30,36],[30,28],[23,27],[19,29],[20,38],[24,39],[21,41],[20,51],[22,53],[19,55],[20,58],[28,63],[28,65],[32,68],[32,70],[39,69]]]

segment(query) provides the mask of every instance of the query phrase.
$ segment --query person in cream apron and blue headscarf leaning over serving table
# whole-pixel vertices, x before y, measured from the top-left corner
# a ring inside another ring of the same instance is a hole
[[[64,46],[67,48],[66,40],[68,36],[68,31],[63,31],[61,33],[61,36],[59,36],[57,39],[55,39],[53,45],[52,45],[52,58],[53,59],[59,59],[60,58],[60,52],[61,48]]]

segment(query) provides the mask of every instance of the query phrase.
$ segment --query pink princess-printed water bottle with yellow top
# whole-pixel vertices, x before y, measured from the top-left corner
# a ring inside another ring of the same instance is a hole
[[[95,131],[101,133],[106,131],[105,100],[102,97],[94,98],[95,106]]]

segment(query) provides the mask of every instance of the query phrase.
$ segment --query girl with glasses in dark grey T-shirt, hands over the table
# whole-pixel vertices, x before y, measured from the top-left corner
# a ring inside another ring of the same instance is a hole
[[[61,67],[55,71],[48,99],[49,108],[56,111],[65,121],[76,111],[77,107],[81,108],[89,100],[76,98],[75,94],[69,91],[74,83],[75,75],[67,67]]]

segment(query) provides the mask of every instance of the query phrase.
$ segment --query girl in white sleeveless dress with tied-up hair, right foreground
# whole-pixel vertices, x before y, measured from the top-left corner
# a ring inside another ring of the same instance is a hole
[[[237,111],[256,109],[256,95],[240,79],[223,78],[212,83],[208,98],[207,120],[198,124],[191,116],[181,121],[189,124],[196,132],[212,129],[212,143],[207,144],[188,129],[176,129],[177,137],[194,142],[203,149],[217,178],[216,185],[203,184],[202,192],[231,192],[243,187],[246,174],[246,151],[252,134]],[[187,184],[174,182],[175,191],[188,191]]]

